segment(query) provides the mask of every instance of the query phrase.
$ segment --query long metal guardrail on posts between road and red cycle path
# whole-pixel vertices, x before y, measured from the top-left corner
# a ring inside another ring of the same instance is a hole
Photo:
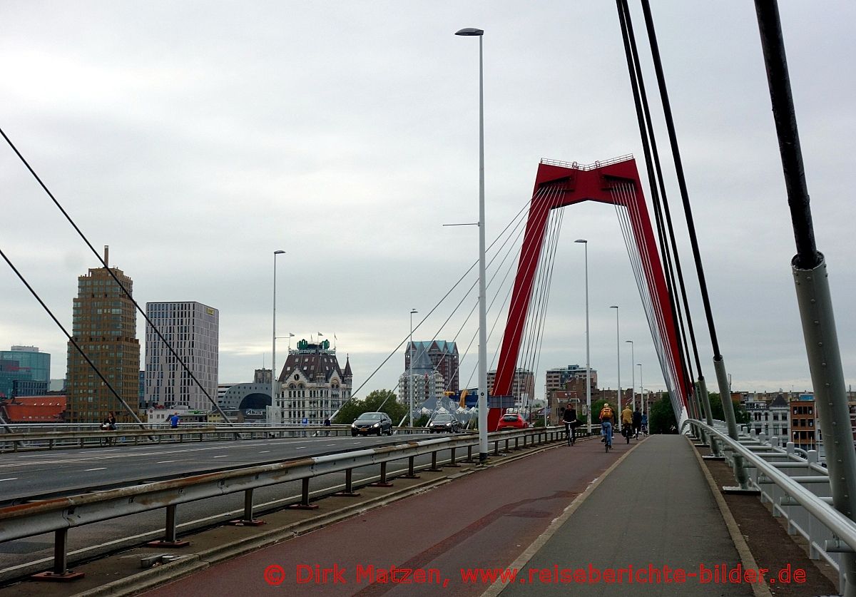
[[[327,428],[329,429],[329,428]],[[146,433],[145,430],[141,430]],[[121,432],[116,432],[121,433]],[[151,433],[151,431],[147,432]],[[508,450],[510,442],[515,447],[527,444],[544,444],[564,440],[564,428],[534,428],[501,431],[490,434],[494,453],[504,442]],[[239,523],[253,524],[253,490],[285,482],[302,482],[298,508],[312,508],[309,503],[309,482],[312,477],[331,473],[345,473],[345,489],[339,495],[354,495],[352,473],[360,467],[379,465],[379,484],[387,483],[386,466],[389,462],[407,458],[407,476],[413,476],[417,467],[414,459],[431,455],[428,470],[437,468],[437,452],[449,451],[450,464],[455,464],[458,450],[467,449],[467,460],[473,460],[473,446],[479,445],[475,434],[456,434],[426,440],[411,440],[395,446],[341,452],[312,458],[299,458],[283,463],[262,464],[235,470],[183,477],[144,485],[111,489],[93,494],[80,494],[63,498],[45,499],[28,504],[0,508],[0,543],[44,533],[54,533],[54,563],[50,572],[43,576],[68,578],[67,540],[68,529],[84,524],[98,523],[112,518],[125,517],[140,512],[166,509],[164,539],[160,545],[177,547],[182,544],[176,536],[175,511],[178,505],[198,499],[207,499],[226,494],[244,492],[244,514]],[[421,468],[425,468],[422,465]],[[73,575],[72,575],[73,576]]]

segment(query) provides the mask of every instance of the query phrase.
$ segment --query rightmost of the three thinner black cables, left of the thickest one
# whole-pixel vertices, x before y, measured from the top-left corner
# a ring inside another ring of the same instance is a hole
[[[627,21],[627,26],[632,27],[630,11],[627,8],[626,0],[616,0],[619,3],[620,15],[623,14]],[[713,321],[713,312],[710,307],[710,295],[707,291],[707,282],[704,277],[704,265],[701,261],[701,253],[698,249],[698,237],[695,231],[695,223],[693,220],[693,210],[689,201],[687,192],[687,182],[684,177],[683,165],[681,163],[681,151],[677,143],[677,135],[675,133],[675,122],[672,118],[671,107],[669,104],[669,94],[666,89],[665,77],[663,75],[663,64],[660,60],[660,52],[657,45],[657,35],[654,30],[654,23],[651,17],[651,7],[646,0],[642,0],[642,9],[645,14],[645,26],[648,33],[648,40],[651,46],[651,57],[654,63],[654,70],[657,75],[657,86],[660,92],[660,100],[663,106],[663,116],[666,122],[666,128],[669,133],[669,144],[671,145],[672,157],[675,161],[675,174],[678,180],[678,186],[681,191],[681,201],[684,208],[684,216],[687,222],[687,233],[690,239],[690,245],[693,249],[693,260],[695,262],[696,274],[698,276],[698,287],[704,305],[704,315],[707,320],[708,330],[710,333],[710,343],[713,348],[714,357],[713,364],[716,372],[716,382],[719,387],[719,393],[722,398],[722,411],[724,412],[726,423],[728,424],[728,436],[733,440],[737,440],[737,423],[734,418],[734,405],[731,402],[730,388],[728,387],[728,373],[725,369],[725,362],[722,358],[722,353],[719,350],[719,342],[716,338],[716,324]],[[707,395],[706,388],[703,383],[699,383],[701,387],[702,398]],[[707,406],[707,405],[706,405]],[[708,411],[710,408],[708,407]],[[740,483],[740,489],[748,488],[748,480],[746,471],[743,469],[742,458],[735,462],[735,473],[737,481]]]

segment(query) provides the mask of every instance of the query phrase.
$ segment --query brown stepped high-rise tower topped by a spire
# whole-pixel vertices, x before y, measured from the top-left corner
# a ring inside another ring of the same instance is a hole
[[[104,263],[110,267],[107,247]],[[110,275],[116,275],[116,279]],[[116,280],[119,283],[116,283]],[[77,279],[72,337],[104,379],[130,408],[137,406],[140,383],[140,341],[134,302],[122,291],[133,292],[134,282],[117,268],[93,268]],[[128,410],[104,381],[68,342],[69,423],[99,423],[107,413],[120,422],[131,419]]]

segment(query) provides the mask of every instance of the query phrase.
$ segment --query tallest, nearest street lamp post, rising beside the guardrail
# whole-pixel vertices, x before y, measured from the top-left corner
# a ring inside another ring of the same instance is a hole
[[[487,460],[487,306],[484,281],[484,31],[467,27],[455,35],[479,38],[479,462]]]

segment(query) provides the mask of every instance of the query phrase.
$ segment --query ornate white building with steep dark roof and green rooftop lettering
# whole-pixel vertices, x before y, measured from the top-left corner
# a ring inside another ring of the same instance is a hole
[[[354,375],[346,358],[339,366],[330,341],[300,340],[288,351],[277,379],[276,406],[283,425],[320,425],[351,399]]]

